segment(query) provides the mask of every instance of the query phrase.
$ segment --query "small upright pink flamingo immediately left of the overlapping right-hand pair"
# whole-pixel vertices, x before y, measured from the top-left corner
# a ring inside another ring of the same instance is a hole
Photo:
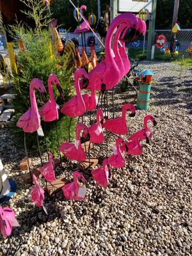
[[[125,141],[122,138],[116,139],[116,146],[113,147],[113,155],[109,157],[109,163],[114,168],[125,167],[125,159],[120,150],[120,145],[124,145]]]

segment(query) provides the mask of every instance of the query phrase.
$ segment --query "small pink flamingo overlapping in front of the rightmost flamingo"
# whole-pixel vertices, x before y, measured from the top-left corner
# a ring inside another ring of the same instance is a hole
[[[145,129],[135,132],[128,138],[128,141],[124,145],[121,145],[120,149],[132,156],[139,156],[143,153],[143,148],[141,147],[140,141],[146,140],[148,143],[147,132]]]

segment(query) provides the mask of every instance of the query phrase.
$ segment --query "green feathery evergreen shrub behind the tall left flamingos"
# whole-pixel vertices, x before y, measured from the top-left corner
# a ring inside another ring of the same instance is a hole
[[[38,107],[41,108],[42,104],[49,100],[49,93],[47,88],[47,79],[49,74],[54,73],[58,76],[60,80],[63,93],[65,95],[64,99],[60,97],[58,90],[54,86],[54,95],[56,101],[63,105],[72,95],[74,86],[72,85],[71,76],[72,69],[67,68],[67,59],[65,56],[59,57],[56,54],[56,49],[51,44],[51,29],[49,29],[49,15],[40,0],[26,0],[28,4],[29,12],[28,16],[35,20],[35,28],[29,28],[29,26],[23,26],[22,24],[17,24],[17,26],[11,26],[10,31],[14,38],[17,40],[20,36],[22,44],[24,45],[24,51],[19,49],[17,53],[17,69],[18,73],[12,74],[10,77],[10,83],[12,84],[12,91],[15,93],[15,99],[13,101],[16,122],[20,115],[25,113],[30,108],[29,99],[29,83],[34,77],[40,79],[44,83],[47,90],[46,97],[40,95],[36,91],[36,100],[38,102]],[[40,5],[41,3],[41,5]],[[37,8],[38,7],[38,8]],[[30,15],[30,12],[32,13]],[[45,13],[44,16],[40,13]],[[38,15],[42,15],[42,20]],[[46,21],[47,20],[47,21]],[[39,23],[38,23],[39,22]],[[33,22],[34,23],[34,22]],[[62,63],[62,65],[60,65]],[[60,66],[60,67],[58,67]],[[43,100],[43,102],[42,102]],[[47,140],[47,145],[51,152],[56,153],[58,151],[58,141],[56,136],[56,126],[58,127],[58,134],[60,142],[62,140],[68,140],[68,124],[70,118],[67,116],[60,116],[58,122],[51,122],[45,124],[45,135]],[[42,122],[43,123],[43,122]],[[74,135],[76,120],[72,121],[71,136]],[[42,124],[44,129],[44,124]],[[15,131],[19,136],[24,136],[21,129],[16,129]],[[34,134],[27,135],[28,148],[33,152],[36,151],[36,132]],[[45,140],[40,139],[40,146],[42,152],[46,150]]]

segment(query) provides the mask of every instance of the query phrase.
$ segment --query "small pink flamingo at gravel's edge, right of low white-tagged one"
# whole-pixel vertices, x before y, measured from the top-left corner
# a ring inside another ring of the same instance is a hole
[[[109,185],[109,171],[110,164],[108,158],[105,158],[102,162],[102,168],[97,168],[92,170],[93,179],[102,188],[107,188]]]

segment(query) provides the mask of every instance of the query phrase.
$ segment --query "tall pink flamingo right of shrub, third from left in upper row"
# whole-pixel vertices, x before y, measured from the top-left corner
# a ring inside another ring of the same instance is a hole
[[[74,77],[76,86],[76,96],[68,100],[68,102],[66,102],[63,105],[63,108],[61,108],[61,113],[70,117],[82,116],[86,111],[83,97],[80,92],[79,77],[87,79],[88,75],[86,74],[86,71],[83,68],[78,68],[74,74]]]

